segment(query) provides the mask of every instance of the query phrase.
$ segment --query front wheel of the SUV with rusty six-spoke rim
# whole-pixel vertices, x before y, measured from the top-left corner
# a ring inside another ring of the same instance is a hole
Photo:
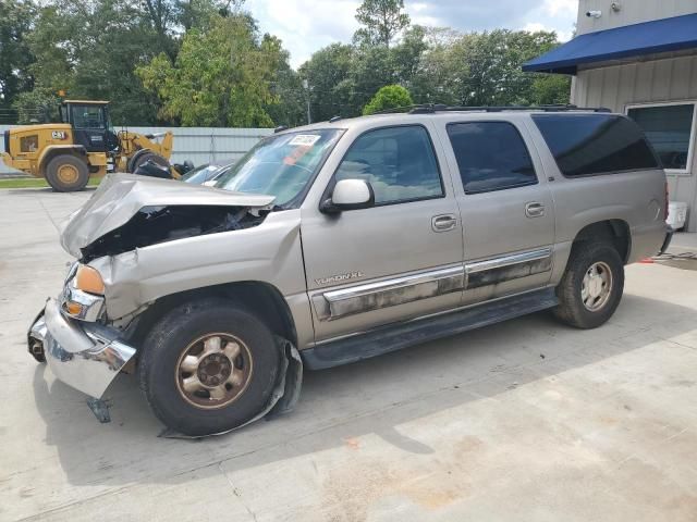
[[[224,351],[210,349],[216,347],[215,337]],[[229,358],[235,346],[239,356]],[[192,357],[197,364],[186,363]],[[233,301],[210,298],[182,304],[155,324],[143,344],[138,378],[160,421],[185,435],[200,436],[237,427],[261,411],[278,369],[279,352],[266,324]],[[201,386],[189,387],[187,382]],[[224,394],[222,399],[213,397],[213,386]]]

